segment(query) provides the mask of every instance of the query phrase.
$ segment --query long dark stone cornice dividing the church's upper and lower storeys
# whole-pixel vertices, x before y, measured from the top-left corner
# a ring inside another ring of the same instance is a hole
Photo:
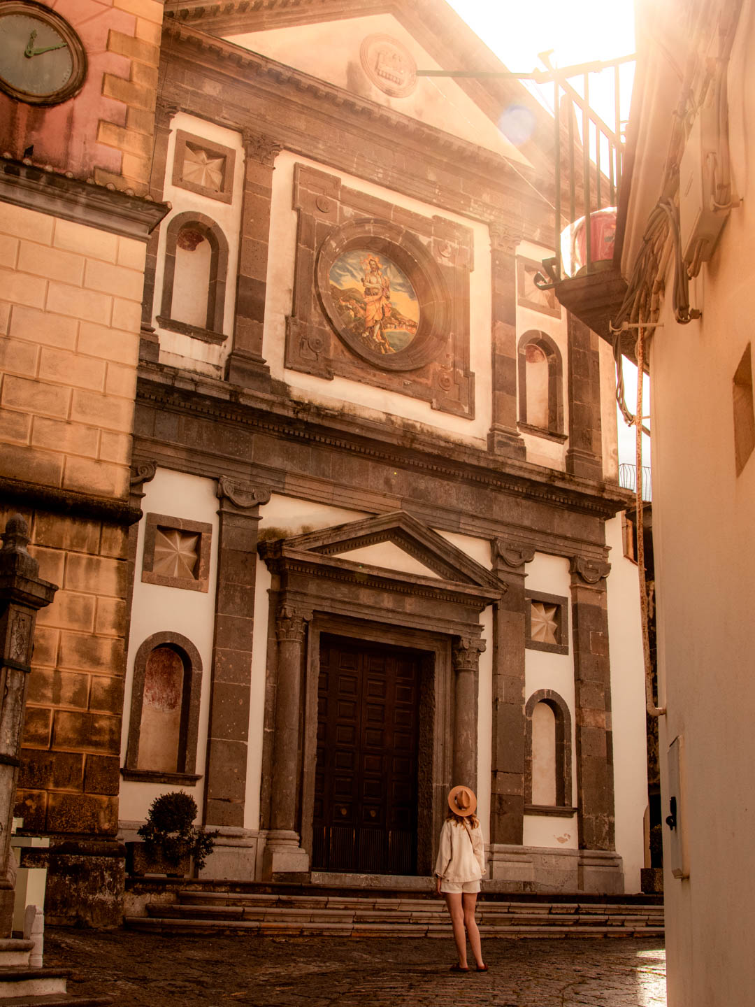
[[[617,485],[591,482],[526,462],[499,459],[484,450],[426,433],[398,434],[387,424],[329,411],[291,399],[241,391],[224,382],[171,373],[159,366],[140,369],[137,402],[154,409],[213,417],[282,439],[349,451],[439,478],[487,486],[519,498],[565,508],[606,520],[631,506],[632,494]],[[211,458],[207,458],[211,463]]]

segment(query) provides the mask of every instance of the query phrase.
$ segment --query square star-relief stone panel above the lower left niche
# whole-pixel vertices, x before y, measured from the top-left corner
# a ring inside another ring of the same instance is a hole
[[[148,514],[142,580],[146,584],[206,592],[212,526],[185,518]]]

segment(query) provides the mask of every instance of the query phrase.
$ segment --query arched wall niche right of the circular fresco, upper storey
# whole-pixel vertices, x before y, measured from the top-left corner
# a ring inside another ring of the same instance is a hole
[[[519,339],[518,379],[519,425],[535,433],[563,434],[561,352],[546,332],[531,330]]]

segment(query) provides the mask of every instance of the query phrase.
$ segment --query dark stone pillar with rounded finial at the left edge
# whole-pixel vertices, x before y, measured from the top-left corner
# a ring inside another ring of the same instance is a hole
[[[29,530],[20,515],[5,526],[0,550],[0,938],[13,929],[15,867],[10,852],[21,730],[34,646],[36,613],[52,601],[56,585],[40,580],[26,552]]]

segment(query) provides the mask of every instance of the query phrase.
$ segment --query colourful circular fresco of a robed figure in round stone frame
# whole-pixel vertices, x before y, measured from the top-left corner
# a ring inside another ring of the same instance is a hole
[[[420,324],[420,302],[403,270],[380,252],[349,249],[328,274],[338,327],[374,353],[410,346]]]

